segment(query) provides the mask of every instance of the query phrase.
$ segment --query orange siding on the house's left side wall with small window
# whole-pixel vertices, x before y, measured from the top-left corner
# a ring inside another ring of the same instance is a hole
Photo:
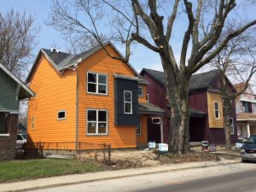
[[[57,73],[42,55],[30,88],[36,96],[30,99],[28,105],[28,142],[75,142],[76,72]],[[57,120],[59,110],[66,110],[66,119]],[[59,146],[59,149],[64,148],[73,148],[73,145]]]

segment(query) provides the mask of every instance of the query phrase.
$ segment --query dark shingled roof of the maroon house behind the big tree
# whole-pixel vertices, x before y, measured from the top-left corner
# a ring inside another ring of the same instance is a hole
[[[152,78],[154,78],[160,84],[165,86],[166,80],[165,80],[165,76],[164,76],[163,72],[143,68],[143,70],[140,74],[142,74],[144,72],[148,73]],[[219,76],[218,70],[212,70],[212,71],[209,71],[206,73],[194,74],[191,76],[190,81],[189,81],[189,90],[211,88],[212,85],[216,82],[216,79],[218,79],[218,76]],[[228,81],[229,81],[229,79],[228,79]],[[230,81],[229,81],[229,83],[230,83]],[[233,85],[231,83],[230,83],[230,85],[233,88]]]

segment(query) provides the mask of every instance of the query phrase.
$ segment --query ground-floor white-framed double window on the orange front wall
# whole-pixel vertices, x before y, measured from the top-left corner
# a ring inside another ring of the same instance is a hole
[[[87,135],[108,134],[108,111],[100,109],[87,110]]]

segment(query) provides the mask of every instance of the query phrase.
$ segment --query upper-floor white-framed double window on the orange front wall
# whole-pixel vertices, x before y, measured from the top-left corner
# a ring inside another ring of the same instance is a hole
[[[99,73],[87,73],[87,92],[108,95],[108,76]]]

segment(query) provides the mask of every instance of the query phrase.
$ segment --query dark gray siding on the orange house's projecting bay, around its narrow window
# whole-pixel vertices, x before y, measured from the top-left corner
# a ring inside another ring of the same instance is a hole
[[[138,124],[137,81],[129,79],[115,79],[115,125]],[[132,91],[132,114],[124,113],[124,91]]]

